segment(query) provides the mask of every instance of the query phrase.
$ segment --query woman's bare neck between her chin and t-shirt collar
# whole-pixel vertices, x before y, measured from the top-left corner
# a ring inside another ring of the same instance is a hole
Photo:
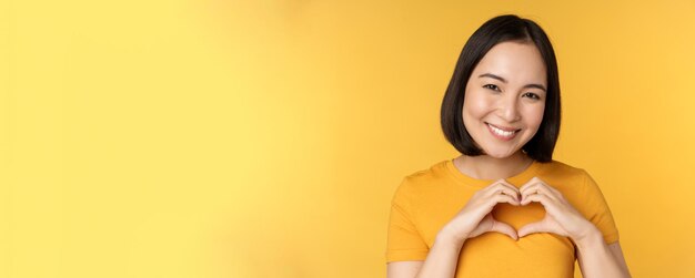
[[[454,165],[463,174],[476,179],[501,179],[515,176],[526,169],[533,159],[526,154],[516,152],[512,156],[496,158],[488,155],[466,156],[454,158]]]

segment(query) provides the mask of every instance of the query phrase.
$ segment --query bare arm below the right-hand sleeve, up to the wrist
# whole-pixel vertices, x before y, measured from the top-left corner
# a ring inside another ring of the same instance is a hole
[[[576,245],[577,260],[584,277],[632,277],[621,244],[606,245],[598,229]]]

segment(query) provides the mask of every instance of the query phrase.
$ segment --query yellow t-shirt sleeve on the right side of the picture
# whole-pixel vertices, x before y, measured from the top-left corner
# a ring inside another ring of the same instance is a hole
[[[603,234],[606,244],[613,244],[618,240],[617,227],[613,219],[613,214],[608,208],[608,204],[601,193],[596,182],[584,172],[584,188],[586,198],[586,218],[592,222]]]

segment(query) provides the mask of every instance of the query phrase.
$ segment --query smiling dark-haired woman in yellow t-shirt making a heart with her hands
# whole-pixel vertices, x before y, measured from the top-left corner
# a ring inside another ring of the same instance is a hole
[[[611,210],[583,169],[552,159],[560,132],[553,47],[501,16],[469,39],[442,103],[462,155],[403,179],[389,277],[629,277]]]

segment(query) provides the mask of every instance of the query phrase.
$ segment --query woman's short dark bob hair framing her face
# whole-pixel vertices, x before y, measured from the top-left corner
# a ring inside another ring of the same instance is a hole
[[[553,150],[560,134],[560,80],[557,61],[550,39],[538,24],[517,16],[500,16],[483,23],[463,47],[454,74],[442,101],[441,121],[444,136],[459,152],[482,155],[463,125],[463,100],[465,86],[473,69],[494,45],[501,42],[517,41],[536,45],[547,72],[547,93],[543,121],[536,134],[523,147],[531,158],[537,162],[553,159]]]

